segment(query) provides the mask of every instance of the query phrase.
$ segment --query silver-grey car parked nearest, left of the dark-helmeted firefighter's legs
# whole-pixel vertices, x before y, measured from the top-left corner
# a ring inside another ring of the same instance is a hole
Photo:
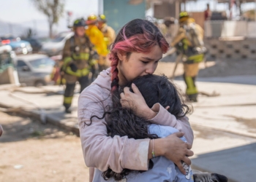
[[[50,74],[55,61],[47,55],[19,55],[15,62],[20,83],[34,87],[54,84]]]

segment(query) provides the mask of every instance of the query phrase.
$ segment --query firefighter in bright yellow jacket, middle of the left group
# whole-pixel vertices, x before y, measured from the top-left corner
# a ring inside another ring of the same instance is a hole
[[[88,28],[86,29],[86,35],[89,36],[91,43],[94,44],[95,49],[99,55],[98,66],[99,71],[105,68],[106,57],[108,55],[108,45],[105,43],[104,35],[97,27],[98,18],[96,15],[89,15],[86,20]]]

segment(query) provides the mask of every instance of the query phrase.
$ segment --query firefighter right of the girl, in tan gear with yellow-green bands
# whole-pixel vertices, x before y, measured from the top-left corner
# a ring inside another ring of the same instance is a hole
[[[171,47],[176,47],[177,52],[182,54],[184,63],[184,81],[187,84],[186,94],[188,99],[197,102],[197,87],[195,78],[198,74],[199,63],[203,61],[206,48],[203,46],[203,28],[189,17],[187,12],[179,15],[180,28],[173,38]]]

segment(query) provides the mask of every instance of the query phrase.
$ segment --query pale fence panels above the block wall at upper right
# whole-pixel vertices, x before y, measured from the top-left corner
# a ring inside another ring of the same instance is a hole
[[[244,36],[256,38],[256,22],[211,20],[205,22],[205,37]]]

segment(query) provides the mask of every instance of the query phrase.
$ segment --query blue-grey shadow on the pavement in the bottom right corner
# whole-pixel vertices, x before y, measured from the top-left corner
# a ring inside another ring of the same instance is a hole
[[[192,166],[198,170],[207,169],[211,173],[226,175],[230,181],[255,182],[256,163],[252,159],[256,159],[256,143],[200,154],[192,159]]]

